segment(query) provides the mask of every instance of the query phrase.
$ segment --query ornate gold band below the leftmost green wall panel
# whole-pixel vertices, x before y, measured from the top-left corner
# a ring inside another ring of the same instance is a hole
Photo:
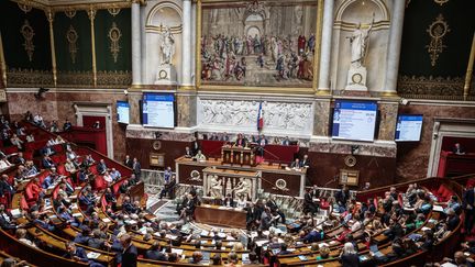
[[[49,70],[15,69],[7,71],[9,87],[51,87],[53,75]]]

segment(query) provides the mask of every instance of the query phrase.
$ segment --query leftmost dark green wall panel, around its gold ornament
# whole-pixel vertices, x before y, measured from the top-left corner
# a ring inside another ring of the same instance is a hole
[[[34,52],[31,62],[24,47],[25,40],[21,33],[25,20],[34,31]],[[15,2],[2,0],[0,1],[0,31],[9,68],[52,69],[49,25],[42,10],[32,9],[25,13]]]

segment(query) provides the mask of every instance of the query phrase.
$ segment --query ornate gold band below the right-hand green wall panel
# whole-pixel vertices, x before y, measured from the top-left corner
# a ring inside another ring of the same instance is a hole
[[[464,78],[462,77],[398,77],[398,94],[405,98],[461,100],[463,88]]]

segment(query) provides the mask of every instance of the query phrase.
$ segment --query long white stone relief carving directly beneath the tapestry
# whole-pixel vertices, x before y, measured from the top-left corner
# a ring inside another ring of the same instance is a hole
[[[202,126],[241,126],[254,129],[259,101],[200,100],[199,122]],[[263,102],[264,131],[306,133],[311,126],[311,103]],[[310,126],[309,126],[310,125]],[[309,130],[311,133],[311,129]]]

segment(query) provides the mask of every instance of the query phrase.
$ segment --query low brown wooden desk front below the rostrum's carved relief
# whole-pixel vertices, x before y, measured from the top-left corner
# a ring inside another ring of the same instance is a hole
[[[245,211],[219,208],[219,205],[198,205],[195,210],[197,222],[227,227],[245,229]]]

